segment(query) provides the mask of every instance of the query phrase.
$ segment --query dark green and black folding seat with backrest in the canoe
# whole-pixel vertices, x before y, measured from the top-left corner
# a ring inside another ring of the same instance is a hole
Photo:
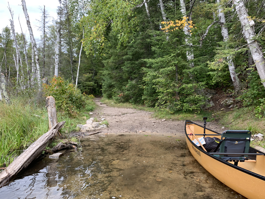
[[[215,154],[214,156],[219,157],[224,161],[233,161],[235,162],[235,165],[237,165],[237,162],[244,162],[245,160],[248,160],[248,155],[244,155],[244,153],[249,153],[250,138],[250,131],[223,131],[221,142],[214,150],[214,153],[220,147],[220,153],[229,153],[229,155]]]

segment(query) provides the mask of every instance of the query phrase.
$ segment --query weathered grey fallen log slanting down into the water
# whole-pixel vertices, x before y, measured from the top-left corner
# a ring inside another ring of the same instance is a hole
[[[38,158],[54,136],[64,126],[65,121],[54,125],[47,133],[43,134],[37,141],[33,142],[19,157],[17,157],[3,172],[0,173],[0,188],[13,180],[19,172],[36,158]]]

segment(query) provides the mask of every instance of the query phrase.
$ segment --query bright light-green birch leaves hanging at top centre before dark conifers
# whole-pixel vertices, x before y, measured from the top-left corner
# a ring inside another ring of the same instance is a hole
[[[110,28],[118,36],[118,46],[127,42],[129,33],[137,29],[138,21],[133,7],[138,3],[138,0],[130,3],[123,0],[91,1],[90,12],[81,20],[85,27],[84,47],[87,54],[102,52]]]

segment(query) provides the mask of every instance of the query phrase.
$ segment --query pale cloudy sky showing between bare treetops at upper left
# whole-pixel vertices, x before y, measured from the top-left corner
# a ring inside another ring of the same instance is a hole
[[[56,9],[57,6],[59,6],[58,0],[25,0],[27,11],[29,14],[29,20],[32,27],[33,35],[35,39],[40,38],[41,32],[38,31],[37,26],[39,25],[39,22],[36,20],[41,19],[41,12],[39,10],[39,7],[42,8],[45,5],[45,10],[48,11],[49,15],[51,17],[54,17],[57,19],[57,13]],[[27,22],[25,19],[25,15],[21,6],[21,0],[0,0],[0,32],[2,32],[2,29],[6,26],[10,28],[10,22],[9,19],[11,19],[10,12],[7,8],[9,2],[9,6],[14,11],[14,25],[15,25],[15,32],[21,33],[19,20],[21,23],[21,27],[23,32],[29,37],[29,30],[27,27]],[[19,17],[19,20],[18,20]],[[52,20],[51,20],[52,21]]]

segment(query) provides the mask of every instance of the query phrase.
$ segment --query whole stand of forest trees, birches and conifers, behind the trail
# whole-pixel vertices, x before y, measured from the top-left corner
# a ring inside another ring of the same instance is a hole
[[[205,88],[229,88],[263,116],[264,1],[59,2],[57,19],[41,9],[37,42],[17,33],[10,11],[0,35],[1,99],[31,98],[61,76],[81,93],[170,113],[200,112],[211,101]]]

